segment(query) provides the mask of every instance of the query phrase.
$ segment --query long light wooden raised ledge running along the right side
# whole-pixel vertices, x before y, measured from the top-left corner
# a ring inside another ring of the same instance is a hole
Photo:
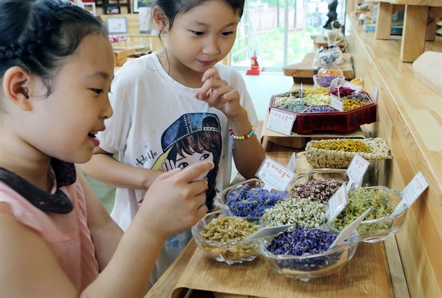
[[[400,37],[376,40],[356,21],[347,23],[356,77],[367,92],[378,86],[375,132],[394,155],[388,186],[403,189],[419,171],[430,185],[396,235],[410,297],[442,297],[442,98],[399,59]],[[441,52],[442,39],[425,43],[425,50]]]

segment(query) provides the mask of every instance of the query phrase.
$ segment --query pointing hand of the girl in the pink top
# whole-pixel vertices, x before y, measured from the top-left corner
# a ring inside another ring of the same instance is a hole
[[[207,212],[207,181],[198,177],[212,168],[213,162],[203,161],[160,175],[146,192],[139,211],[147,228],[166,239],[196,224]]]

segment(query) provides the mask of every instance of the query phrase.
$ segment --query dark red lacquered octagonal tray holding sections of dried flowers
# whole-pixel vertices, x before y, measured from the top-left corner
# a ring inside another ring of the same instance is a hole
[[[372,103],[367,103],[361,108],[349,110],[346,112],[316,112],[316,113],[302,113],[294,112],[273,106],[273,102],[278,95],[271,97],[270,108],[280,110],[296,115],[296,120],[291,128],[291,131],[300,134],[309,134],[312,132],[351,132],[359,128],[363,124],[376,122],[376,103],[370,97]]]

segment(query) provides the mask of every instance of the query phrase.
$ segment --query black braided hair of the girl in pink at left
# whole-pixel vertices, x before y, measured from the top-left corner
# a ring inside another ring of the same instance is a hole
[[[90,12],[67,0],[0,0],[0,81],[19,66],[40,77],[50,95],[59,67],[89,34],[107,36]]]

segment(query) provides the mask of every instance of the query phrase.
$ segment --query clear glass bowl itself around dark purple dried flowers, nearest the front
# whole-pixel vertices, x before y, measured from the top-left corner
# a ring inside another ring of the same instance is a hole
[[[324,228],[338,235],[334,229]],[[330,251],[325,251],[316,255],[273,255],[266,246],[273,238],[258,241],[259,252],[276,272],[286,277],[309,281],[316,277],[323,277],[337,272],[352,259],[359,242],[358,232],[352,234],[342,244]]]

